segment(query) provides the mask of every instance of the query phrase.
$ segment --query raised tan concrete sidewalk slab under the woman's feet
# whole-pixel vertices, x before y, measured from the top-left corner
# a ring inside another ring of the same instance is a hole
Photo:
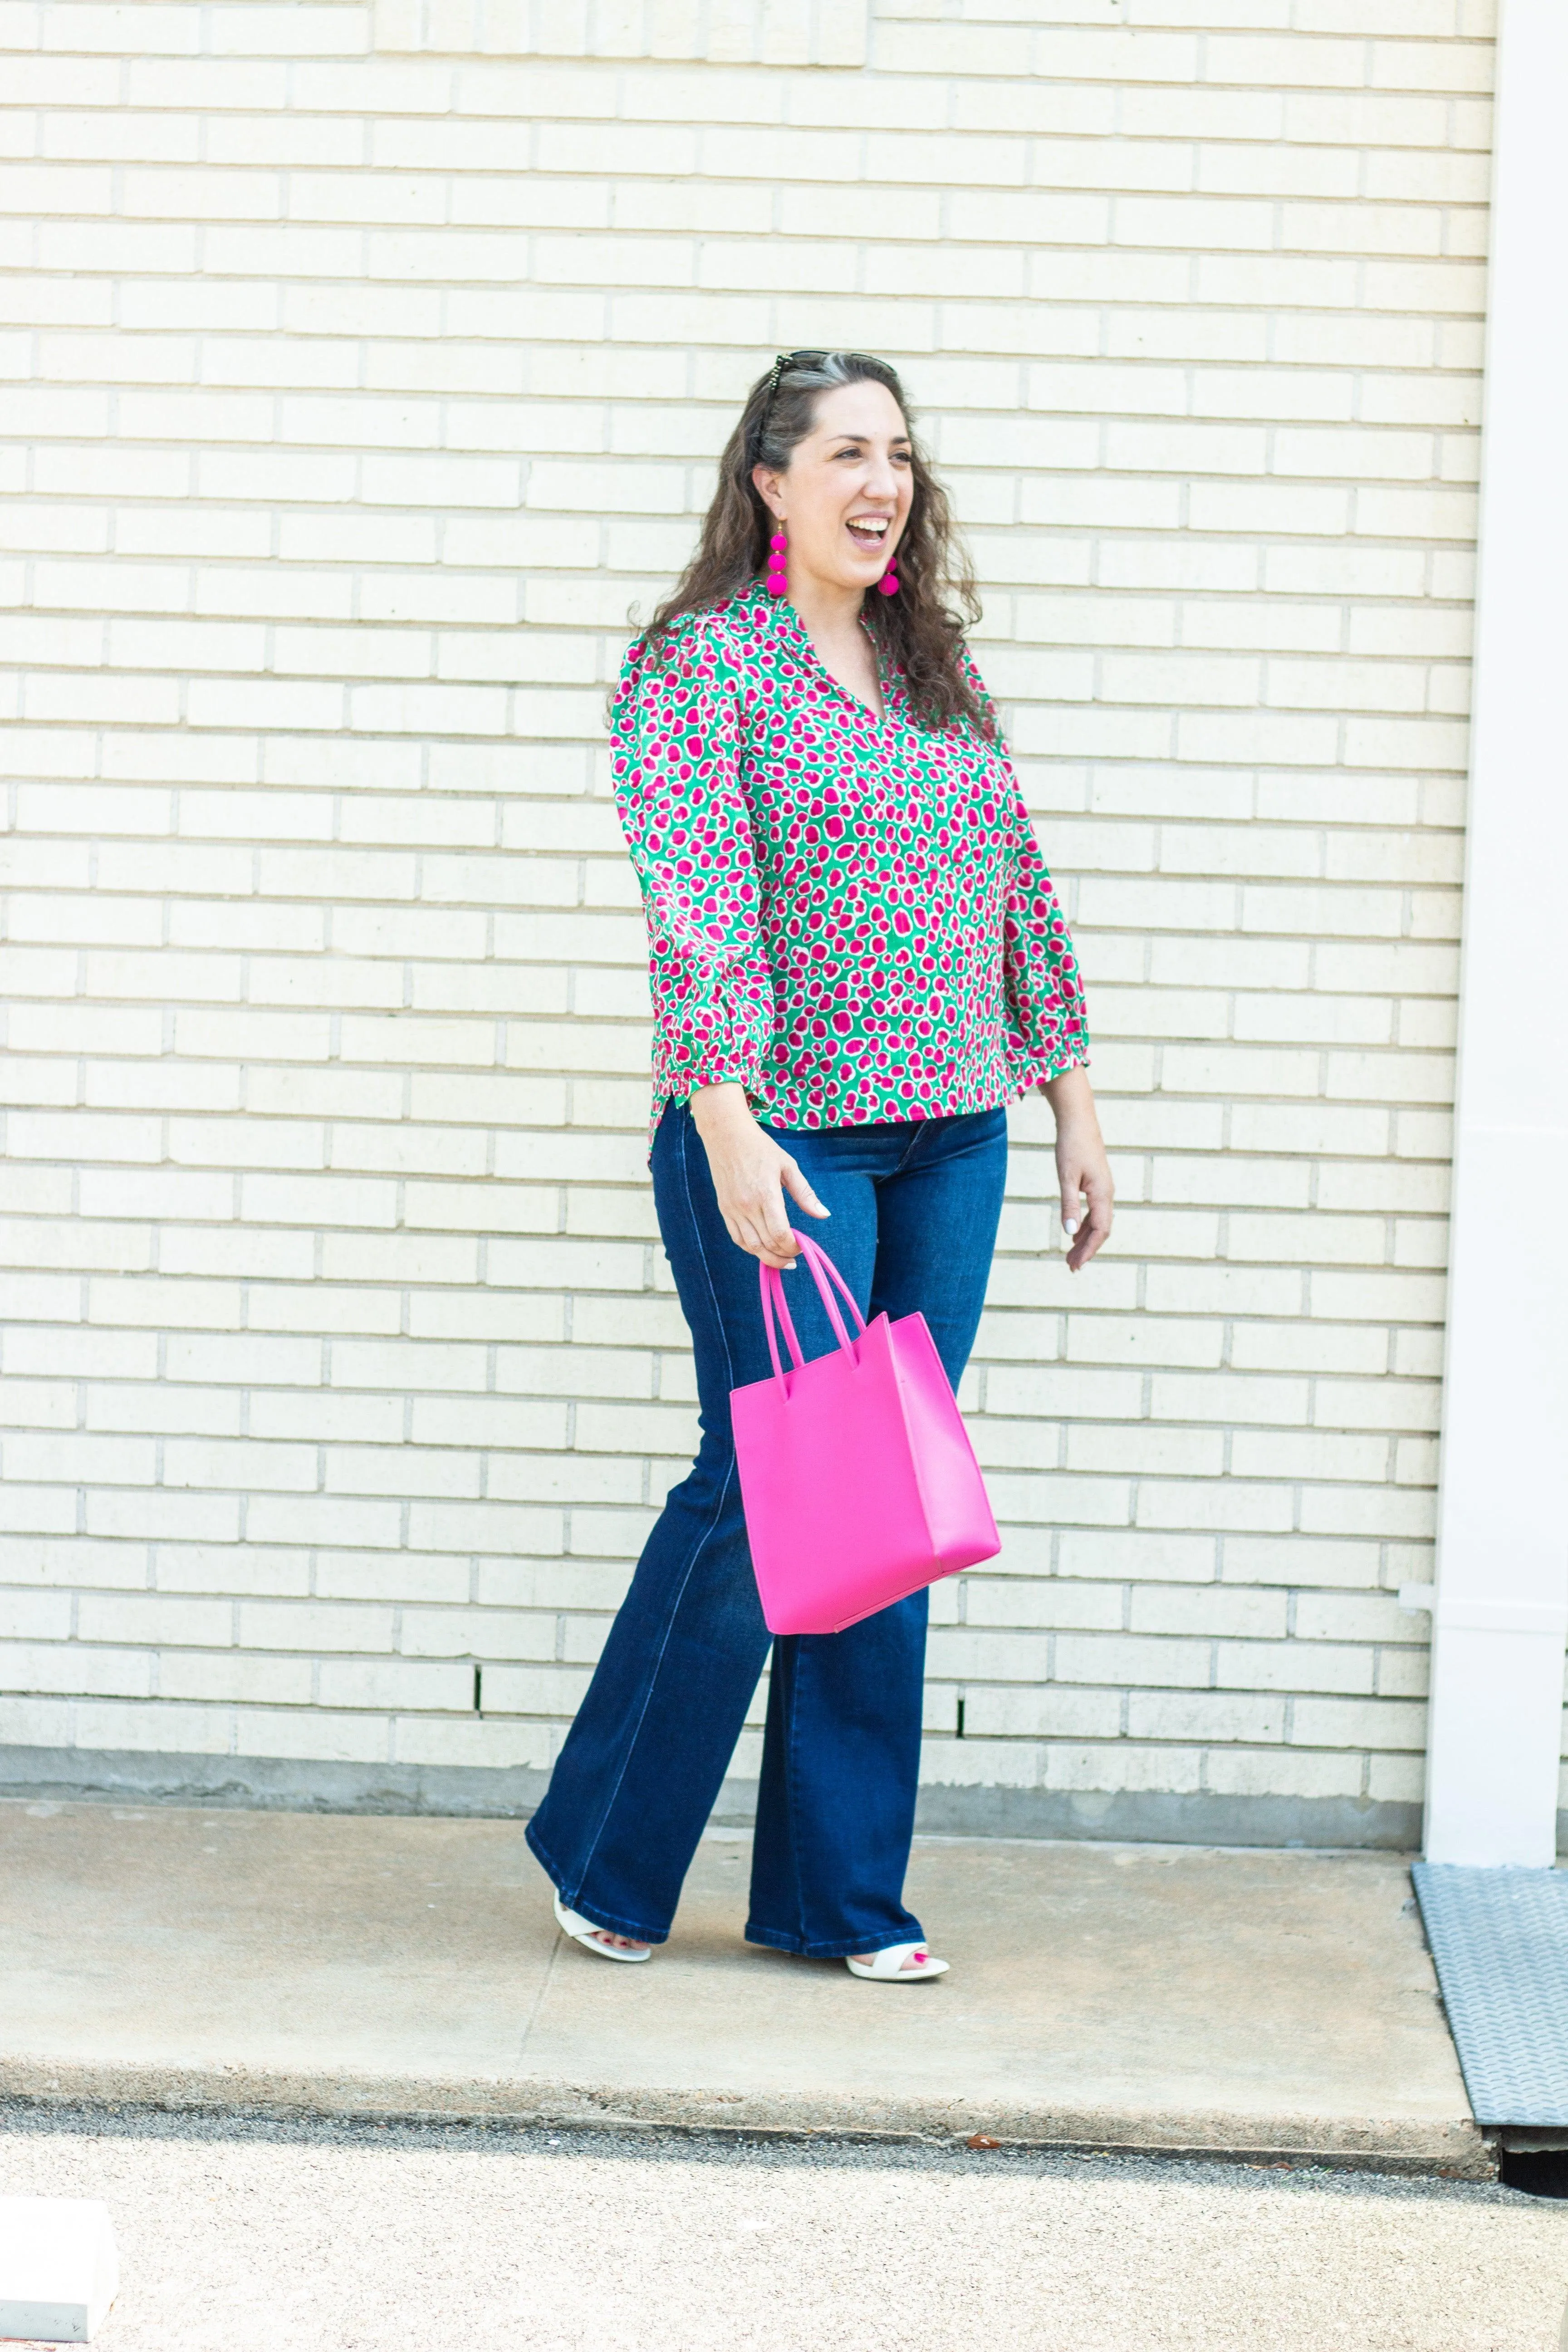
[[[1490,2178],[1382,1853],[919,1839],[936,1985],[557,1936],[510,1820],[0,1804],[0,2096],[875,2131]]]

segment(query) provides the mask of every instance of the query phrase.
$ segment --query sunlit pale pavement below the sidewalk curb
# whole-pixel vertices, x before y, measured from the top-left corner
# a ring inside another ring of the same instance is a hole
[[[96,2352],[1556,2352],[1568,2201],[668,2131],[0,2107],[106,2197]]]

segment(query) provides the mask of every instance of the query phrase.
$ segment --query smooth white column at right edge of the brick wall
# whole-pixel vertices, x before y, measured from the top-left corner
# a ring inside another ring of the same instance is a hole
[[[1505,0],[1427,1858],[1549,1863],[1568,1632],[1568,5]]]

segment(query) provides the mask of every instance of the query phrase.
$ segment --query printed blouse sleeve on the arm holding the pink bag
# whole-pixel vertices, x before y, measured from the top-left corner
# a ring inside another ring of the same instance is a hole
[[[752,811],[741,786],[741,675],[717,633],[684,628],[625,656],[611,774],[649,920],[654,1091],[762,1084],[773,978]]]

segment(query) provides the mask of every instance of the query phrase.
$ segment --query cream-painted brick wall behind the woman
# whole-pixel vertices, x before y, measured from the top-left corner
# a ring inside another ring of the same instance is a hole
[[[1070,1282],[1018,1112],[929,1780],[1420,1795],[1488,33],[0,0],[2,1738],[555,1755],[693,1428],[604,684],[853,341],[1124,1202]]]

